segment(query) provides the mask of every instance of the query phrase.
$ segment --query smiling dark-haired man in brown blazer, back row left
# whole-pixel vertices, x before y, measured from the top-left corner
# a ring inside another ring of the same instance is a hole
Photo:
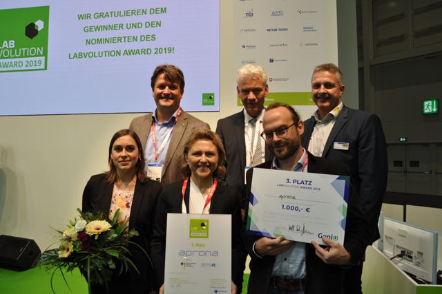
[[[144,144],[147,176],[169,184],[181,180],[184,144],[193,129],[209,125],[180,107],[184,74],[175,65],[158,65],[151,77],[155,112],[134,118],[129,126]]]

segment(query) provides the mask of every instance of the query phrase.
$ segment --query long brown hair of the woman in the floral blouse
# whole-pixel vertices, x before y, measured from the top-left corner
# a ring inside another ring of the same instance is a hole
[[[140,182],[144,182],[146,180],[146,175],[144,174],[144,152],[140,138],[131,129],[120,129],[118,132],[116,132],[113,135],[111,143],[109,143],[109,155],[108,155],[109,170],[104,173],[106,174],[106,182],[108,182],[109,184],[113,184],[117,180],[117,168],[115,167],[115,165],[113,165],[113,160],[111,159],[113,144],[115,143],[117,138],[127,135],[131,136],[133,140],[135,140],[135,143],[137,144],[138,148],[138,154],[140,155],[140,159],[137,161],[137,165],[135,167],[135,174],[137,174],[137,178],[138,180],[140,180]]]

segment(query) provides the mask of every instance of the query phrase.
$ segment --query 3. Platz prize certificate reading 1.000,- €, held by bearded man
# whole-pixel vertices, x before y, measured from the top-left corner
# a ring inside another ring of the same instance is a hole
[[[344,242],[348,176],[253,169],[247,233],[324,244]]]

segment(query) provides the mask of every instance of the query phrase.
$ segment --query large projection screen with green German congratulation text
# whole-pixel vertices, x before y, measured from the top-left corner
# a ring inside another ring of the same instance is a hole
[[[219,111],[219,0],[2,0],[0,27],[0,115],[152,112],[162,63]]]

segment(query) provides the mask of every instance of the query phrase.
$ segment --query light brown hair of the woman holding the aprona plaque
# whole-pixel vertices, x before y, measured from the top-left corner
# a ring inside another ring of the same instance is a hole
[[[199,140],[210,141],[218,149],[218,167],[213,171],[213,177],[223,177],[226,175],[226,167],[222,164],[226,160],[226,151],[222,146],[222,141],[218,134],[209,131],[208,129],[195,129],[189,139],[184,145],[184,157],[189,153],[189,149]],[[185,177],[191,176],[191,169],[187,163],[181,169],[182,175]]]

